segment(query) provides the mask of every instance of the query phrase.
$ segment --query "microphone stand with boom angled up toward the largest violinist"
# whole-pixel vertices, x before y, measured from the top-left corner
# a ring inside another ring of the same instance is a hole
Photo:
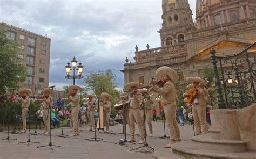
[[[149,92],[149,88],[150,88],[150,86],[152,84],[153,79],[154,78],[151,78],[150,85],[147,87],[147,92]],[[142,109],[142,105],[144,105],[144,99],[146,99],[147,92],[146,92],[145,96],[143,96],[142,103],[140,104],[140,109]],[[139,149],[139,148],[143,148],[142,150],[140,150],[140,153],[151,153],[151,151],[154,151],[154,148],[150,147],[149,144],[147,144],[146,121],[145,121],[145,107],[144,106],[143,106],[143,114],[144,114],[144,134],[145,134],[144,146],[140,146],[140,147],[131,149],[130,151],[133,151],[133,150],[136,150],[136,149]],[[149,148],[151,151],[145,150],[145,147]]]

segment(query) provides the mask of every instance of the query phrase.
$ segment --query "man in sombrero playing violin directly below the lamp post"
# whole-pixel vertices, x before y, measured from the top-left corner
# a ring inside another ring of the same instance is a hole
[[[78,113],[80,110],[80,96],[78,95],[78,91],[81,90],[80,86],[78,85],[70,85],[69,90],[71,93],[68,93],[68,99],[71,103],[72,107],[72,120],[73,120],[73,133],[69,136],[77,136],[79,135],[79,127],[78,127]]]

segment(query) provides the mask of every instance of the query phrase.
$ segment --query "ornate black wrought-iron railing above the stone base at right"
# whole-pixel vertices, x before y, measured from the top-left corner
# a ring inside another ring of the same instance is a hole
[[[221,81],[225,93],[226,106],[230,109],[242,108],[256,102],[255,84],[256,84],[256,42],[242,52],[231,56],[214,56],[220,63],[220,78],[218,72],[215,71],[216,90],[220,88],[220,84],[216,81]],[[215,51],[215,50],[214,50]],[[217,63],[215,59],[215,62]],[[213,67],[217,68],[214,62]],[[218,92],[219,95],[219,92]],[[219,105],[220,109],[224,109]]]

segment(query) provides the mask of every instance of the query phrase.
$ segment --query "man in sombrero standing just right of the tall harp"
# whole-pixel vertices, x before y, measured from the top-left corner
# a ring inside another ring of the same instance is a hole
[[[101,103],[103,104],[103,109],[104,109],[104,121],[106,123],[106,132],[109,133],[109,118],[110,118],[110,113],[111,113],[111,100],[113,97],[106,92],[103,92],[100,97],[104,99],[104,102]]]

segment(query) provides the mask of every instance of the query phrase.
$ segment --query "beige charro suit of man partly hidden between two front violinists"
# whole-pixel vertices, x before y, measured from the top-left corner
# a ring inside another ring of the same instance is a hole
[[[154,103],[154,100],[152,100],[151,98],[146,99],[145,102],[145,117],[144,117],[144,112],[143,109],[140,110],[140,115],[142,116],[142,126],[144,128],[144,121],[147,120],[147,126],[149,126],[149,131],[150,133],[153,133],[153,128],[152,128],[152,122],[151,122],[151,109],[152,109],[152,104]],[[144,119],[145,118],[145,119]],[[144,130],[145,131],[145,130]]]

